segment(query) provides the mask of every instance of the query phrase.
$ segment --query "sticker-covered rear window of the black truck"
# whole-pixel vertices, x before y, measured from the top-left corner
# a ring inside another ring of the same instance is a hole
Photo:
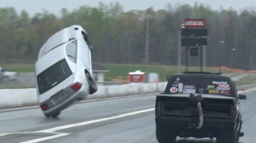
[[[169,81],[165,93],[204,93],[230,96],[231,83],[223,78],[176,77]]]

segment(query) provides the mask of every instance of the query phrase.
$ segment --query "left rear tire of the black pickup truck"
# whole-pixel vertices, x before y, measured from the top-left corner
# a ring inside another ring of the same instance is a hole
[[[156,139],[159,143],[174,143],[176,138],[174,130],[156,127]]]

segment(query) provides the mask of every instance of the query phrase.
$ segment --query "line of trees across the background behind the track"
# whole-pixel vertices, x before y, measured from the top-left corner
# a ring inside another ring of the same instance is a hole
[[[231,66],[233,61],[234,68],[256,67],[255,10],[212,10],[197,3],[126,12],[118,2],[99,3],[98,7],[84,5],[73,11],[62,8],[61,16],[43,11],[32,17],[25,10],[17,13],[12,7],[0,8],[0,62],[35,62],[49,36],[76,24],[86,29],[93,44],[93,62],[143,64],[146,19],[150,24],[150,64],[177,65],[180,25],[184,19],[206,19],[207,66]],[[185,51],[181,48],[183,65]],[[190,63],[197,64],[197,57],[193,58]]]

